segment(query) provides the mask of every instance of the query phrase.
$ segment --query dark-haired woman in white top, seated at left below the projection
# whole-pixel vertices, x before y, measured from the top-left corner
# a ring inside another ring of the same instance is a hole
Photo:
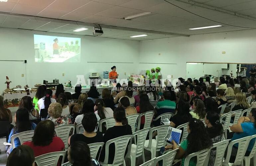
[[[53,91],[51,89],[46,89],[45,93],[45,97],[42,97],[37,102],[39,114],[41,109],[47,110],[51,103],[56,103],[56,100],[52,98]]]

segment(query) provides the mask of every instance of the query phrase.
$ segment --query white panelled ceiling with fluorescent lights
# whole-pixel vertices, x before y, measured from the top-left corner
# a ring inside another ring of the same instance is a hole
[[[180,0],[168,1],[192,13],[214,21],[235,26],[256,28],[255,20],[213,11],[203,7],[180,2]],[[194,1],[256,18],[256,0]],[[92,26],[84,26],[79,22],[95,23],[100,25],[139,29],[138,32],[134,32],[103,28],[104,34],[101,36],[139,41],[176,37],[174,35],[140,32],[142,30],[195,35],[248,29],[215,23],[213,21],[193,15],[165,2],[164,0],[8,0],[8,2],[0,2],[0,12],[5,12],[5,14],[0,14],[0,27],[92,35]],[[143,12],[151,12],[151,14],[132,20],[123,19],[126,16]],[[77,21],[77,24],[74,22],[55,22],[47,19],[42,21],[42,19],[36,17],[14,16],[9,15],[10,13]],[[203,30],[189,30],[189,28],[211,25],[222,25],[223,27]],[[88,28],[88,30],[77,33],[72,31],[81,27]],[[147,34],[148,36],[142,38],[130,38],[130,36],[141,34]]]

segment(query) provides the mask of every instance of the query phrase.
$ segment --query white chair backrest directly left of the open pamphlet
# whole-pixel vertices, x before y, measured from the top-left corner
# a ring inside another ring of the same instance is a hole
[[[165,136],[168,132],[169,127],[171,127],[171,125],[161,125],[161,126],[157,126],[157,127],[153,127],[150,129],[149,131],[149,145],[148,148],[151,148],[151,144],[152,144],[152,135],[154,131],[157,131],[157,136],[156,136],[156,149],[159,150],[161,147],[165,146],[166,144],[166,139]]]

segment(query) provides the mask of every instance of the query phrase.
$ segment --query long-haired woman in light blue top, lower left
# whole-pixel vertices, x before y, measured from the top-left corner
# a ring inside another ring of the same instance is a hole
[[[34,130],[36,128],[35,123],[31,123],[29,121],[29,111],[26,108],[18,109],[16,111],[16,114],[14,116],[14,122],[16,126],[14,126],[10,132],[8,142],[11,143],[11,136],[23,131],[29,131],[29,130]],[[20,145],[20,140],[19,138],[14,139],[14,144],[15,147]],[[12,151],[12,146],[9,147],[7,153],[10,154]]]

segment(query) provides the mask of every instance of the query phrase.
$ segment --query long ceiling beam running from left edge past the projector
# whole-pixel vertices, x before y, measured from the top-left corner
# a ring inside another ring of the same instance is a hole
[[[91,26],[91,27],[95,26],[95,24],[93,24],[93,23],[84,23],[84,22],[80,22],[80,21],[70,21],[70,20],[46,18],[46,17],[39,17],[39,16],[13,14],[13,13],[6,13],[6,12],[0,12],[0,14],[6,15],[6,16],[12,15],[12,16],[20,16],[20,17],[27,17],[27,18],[29,17],[30,19],[40,20],[40,21],[57,22],[57,23],[65,23],[65,24],[76,24],[76,25]],[[143,29],[135,29],[135,28],[117,27],[117,26],[104,25],[104,24],[96,24],[96,25],[100,25],[102,28],[109,28],[109,29],[116,29],[116,30],[189,37],[189,35],[186,35],[186,34],[177,34],[177,33],[171,33],[171,32],[151,31],[151,30],[143,30]]]

